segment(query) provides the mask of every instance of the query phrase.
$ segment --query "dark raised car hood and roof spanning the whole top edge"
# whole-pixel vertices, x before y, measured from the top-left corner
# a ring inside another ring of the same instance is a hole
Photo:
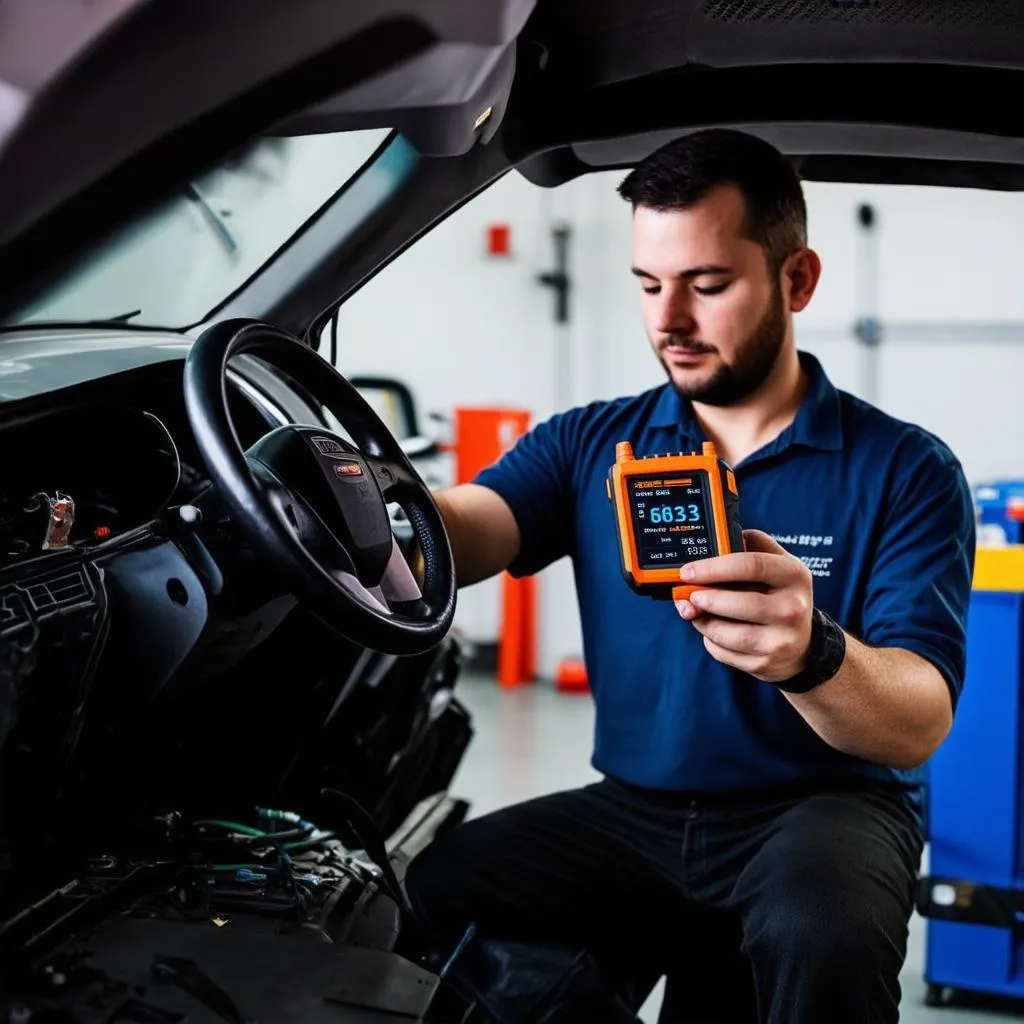
[[[6,0],[4,291],[267,133],[395,127],[555,185],[729,124],[809,179],[1021,188],[1022,43],[1016,0]]]

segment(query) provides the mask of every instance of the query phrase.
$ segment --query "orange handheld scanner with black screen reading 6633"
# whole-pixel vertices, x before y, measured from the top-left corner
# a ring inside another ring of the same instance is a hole
[[[736,477],[711,441],[640,459],[621,441],[607,493],[623,577],[638,594],[688,598],[700,588],[681,583],[683,565],[743,550]]]

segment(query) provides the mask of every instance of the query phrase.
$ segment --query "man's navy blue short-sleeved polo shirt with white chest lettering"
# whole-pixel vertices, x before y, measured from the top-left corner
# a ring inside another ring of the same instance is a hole
[[[928,658],[955,702],[964,681],[974,566],[970,488],[935,436],[833,386],[801,353],[810,386],[794,422],[734,467],[740,521],[807,564],[814,601],[879,647]],[[574,566],[596,705],[593,765],[634,785],[735,791],[901,772],[827,745],[773,686],[716,662],[671,601],[623,579],[605,479],[615,443],[638,457],[699,451],[688,401],[668,384],[538,425],[476,479],[522,535],[514,575],[563,556]],[[542,609],[543,613],[543,609]]]

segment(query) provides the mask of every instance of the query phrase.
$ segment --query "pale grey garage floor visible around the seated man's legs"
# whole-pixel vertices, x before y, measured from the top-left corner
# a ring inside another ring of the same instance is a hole
[[[590,698],[558,693],[545,684],[501,689],[494,679],[469,676],[460,696],[473,715],[476,735],[454,790],[472,802],[472,815],[529,797],[597,778],[590,767],[593,711]],[[924,1006],[924,923],[911,924],[903,971],[901,1020],[906,1024],[998,1024],[1024,1020],[1024,1008]],[[644,1007],[644,1021],[657,1020],[660,993]]]

